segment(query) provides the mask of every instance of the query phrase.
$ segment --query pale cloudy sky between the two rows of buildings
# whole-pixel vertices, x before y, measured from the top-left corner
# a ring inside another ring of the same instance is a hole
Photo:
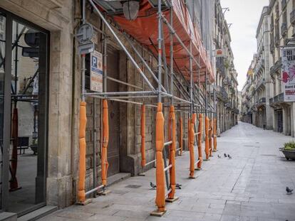
[[[225,12],[232,38],[232,52],[234,53],[234,67],[238,72],[238,89],[242,90],[247,79],[247,70],[257,51],[256,31],[259,18],[264,6],[269,0],[220,0],[222,8],[229,7]]]

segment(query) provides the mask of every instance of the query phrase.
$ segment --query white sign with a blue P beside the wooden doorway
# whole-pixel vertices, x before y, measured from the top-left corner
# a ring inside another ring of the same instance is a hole
[[[103,92],[103,54],[90,53],[90,90]]]

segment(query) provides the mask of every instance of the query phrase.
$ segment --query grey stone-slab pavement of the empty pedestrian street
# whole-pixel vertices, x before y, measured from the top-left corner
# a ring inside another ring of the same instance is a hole
[[[279,151],[290,136],[264,131],[239,122],[217,140],[217,153],[188,179],[189,153],[177,157],[179,200],[167,204],[163,217],[155,210],[155,169],[145,177],[132,177],[110,186],[111,193],[86,206],[73,205],[41,220],[295,220],[295,161],[286,161]],[[203,144],[204,147],[204,144]],[[224,158],[229,153],[232,159]],[[218,158],[217,154],[222,156]],[[138,185],[138,188],[128,188]]]

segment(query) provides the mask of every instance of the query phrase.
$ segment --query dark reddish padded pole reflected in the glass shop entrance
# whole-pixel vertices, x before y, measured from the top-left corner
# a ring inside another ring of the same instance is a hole
[[[12,115],[12,152],[11,152],[11,180],[9,180],[9,190],[17,190],[19,188],[19,183],[16,178],[17,169],[17,146],[19,137],[19,114],[17,108],[14,108],[14,113]]]

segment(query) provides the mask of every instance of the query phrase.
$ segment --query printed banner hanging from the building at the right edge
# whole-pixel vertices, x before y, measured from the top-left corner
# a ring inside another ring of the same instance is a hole
[[[281,68],[284,102],[295,102],[295,48],[282,49]]]

